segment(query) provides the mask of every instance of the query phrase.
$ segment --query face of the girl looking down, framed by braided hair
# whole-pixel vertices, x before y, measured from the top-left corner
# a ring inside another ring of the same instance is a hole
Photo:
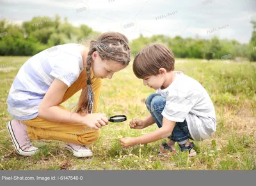
[[[109,78],[111,79],[114,73],[124,69],[126,66],[120,62],[113,60],[102,60],[99,53],[93,52],[92,54],[92,70],[95,78]]]

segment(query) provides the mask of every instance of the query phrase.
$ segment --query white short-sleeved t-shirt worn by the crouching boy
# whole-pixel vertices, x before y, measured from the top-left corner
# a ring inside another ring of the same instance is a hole
[[[166,98],[163,117],[174,122],[186,119],[191,137],[203,141],[216,131],[216,115],[211,97],[195,79],[175,71],[175,80],[166,89],[157,89]]]

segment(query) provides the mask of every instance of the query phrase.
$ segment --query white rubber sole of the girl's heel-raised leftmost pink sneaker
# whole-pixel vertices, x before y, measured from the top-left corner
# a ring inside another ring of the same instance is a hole
[[[31,156],[31,155],[36,154],[36,152],[39,151],[39,149],[38,149],[38,150],[31,150],[31,151],[23,151],[23,150],[20,148],[20,145],[19,145],[18,141],[16,140],[15,135],[14,135],[14,132],[13,132],[13,130],[12,130],[11,121],[9,121],[9,122],[7,123],[7,131],[9,132],[9,134],[10,134],[10,136],[11,136],[11,139],[12,139],[13,145],[14,145],[14,147],[15,147],[15,150],[16,150],[20,155]]]

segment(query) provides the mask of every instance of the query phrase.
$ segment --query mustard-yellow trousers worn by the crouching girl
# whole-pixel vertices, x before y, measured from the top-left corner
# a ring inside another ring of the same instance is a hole
[[[77,91],[86,87],[86,77],[86,70],[84,69],[76,82],[67,89],[61,103],[73,96]],[[94,78],[93,73],[91,73],[91,77],[92,89],[95,92],[93,113],[97,113],[102,79]],[[58,107],[68,110],[61,105],[58,105]],[[27,125],[28,136],[31,140],[60,140],[79,145],[88,145],[98,140],[100,134],[100,129],[90,129],[84,124],[52,122],[39,116],[31,120],[21,120],[20,122]]]

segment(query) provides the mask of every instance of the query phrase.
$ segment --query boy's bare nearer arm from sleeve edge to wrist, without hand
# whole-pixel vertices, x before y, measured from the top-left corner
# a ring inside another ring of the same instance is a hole
[[[153,141],[161,140],[167,138],[172,134],[173,128],[175,127],[176,122],[170,121],[163,117],[163,126],[156,131],[150,132],[143,136],[134,138],[135,144],[144,144],[150,143]]]

